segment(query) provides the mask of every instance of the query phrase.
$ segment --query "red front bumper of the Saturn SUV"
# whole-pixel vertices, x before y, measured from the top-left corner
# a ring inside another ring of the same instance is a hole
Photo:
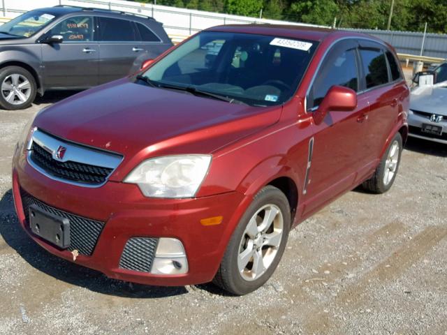
[[[148,199],[138,186],[108,181],[99,188],[84,188],[54,181],[15,155],[13,195],[20,225],[50,253],[73,262],[73,254],[31,232],[22,194],[50,207],[104,223],[91,255],[79,255],[75,263],[103,272],[110,278],[148,285],[191,285],[212,281],[226,245],[249,200],[237,192],[197,199]],[[200,220],[223,216],[219,225]],[[182,241],[189,263],[186,274],[160,275],[119,267],[126,242],[132,237],[173,237]]]

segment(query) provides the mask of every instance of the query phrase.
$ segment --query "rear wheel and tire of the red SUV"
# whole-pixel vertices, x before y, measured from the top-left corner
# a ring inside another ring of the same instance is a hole
[[[363,182],[362,187],[366,191],[380,194],[385,193],[393,186],[397,171],[399,170],[402,147],[402,136],[400,133],[397,133],[393,137],[393,140],[390,141],[390,145],[388,145],[374,175]],[[398,151],[396,152],[395,150]]]

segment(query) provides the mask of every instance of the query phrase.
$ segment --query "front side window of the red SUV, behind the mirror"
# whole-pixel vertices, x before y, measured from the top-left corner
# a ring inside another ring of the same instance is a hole
[[[334,49],[323,60],[323,66],[316,75],[307,99],[307,108],[320,105],[329,89],[334,85],[349,87],[358,91],[356,50]]]

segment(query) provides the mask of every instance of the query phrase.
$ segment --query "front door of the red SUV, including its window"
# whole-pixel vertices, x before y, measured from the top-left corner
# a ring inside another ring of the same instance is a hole
[[[357,46],[353,40],[344,40],[328,52],[307,94],[307,112],[314,112],[334,85],[359,91]],[[309,143],[312,161],[305,186],[305,213],[353,185],[356,172],[365,164],[361,150],[368,112],[367,98],[358,96],[355,110],[328,112],[321,124],[312,125],[314,139]]]

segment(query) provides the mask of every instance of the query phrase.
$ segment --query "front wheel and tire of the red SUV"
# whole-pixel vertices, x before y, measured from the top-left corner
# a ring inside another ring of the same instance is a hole
[[[265,186],[233,232],[213,283],[233,295],[247,295],[260,288],[281,260],[290,227],[286,195],[274,186]]]

